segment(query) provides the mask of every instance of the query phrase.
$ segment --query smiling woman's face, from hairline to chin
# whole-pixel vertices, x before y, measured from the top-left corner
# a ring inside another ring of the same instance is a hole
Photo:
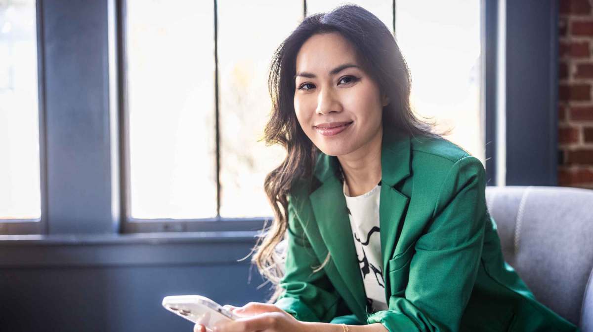
[[[297,54],[294,107],[307,137],[330,156],[362,156],[380,142],[388,104],[339,33],[315,34]]]

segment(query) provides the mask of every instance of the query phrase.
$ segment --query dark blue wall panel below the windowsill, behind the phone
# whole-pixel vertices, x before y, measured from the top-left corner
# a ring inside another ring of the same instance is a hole
[[[0,331],[192,331],[166,311],[166,295],[200,294],[221,304],[264,301],[268,287],[248,263],[53,267],[0,270]]]

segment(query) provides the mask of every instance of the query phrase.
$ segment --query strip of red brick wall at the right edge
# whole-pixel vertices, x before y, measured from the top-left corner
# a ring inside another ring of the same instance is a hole
[[[560,186],[593,188],[593,11],[588,0],[559,0]]]

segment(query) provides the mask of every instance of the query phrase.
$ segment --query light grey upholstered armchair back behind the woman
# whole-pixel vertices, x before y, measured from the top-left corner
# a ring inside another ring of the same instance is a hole
[[[593,332],[593,190],[487,187],[505,260],[538,301]]]

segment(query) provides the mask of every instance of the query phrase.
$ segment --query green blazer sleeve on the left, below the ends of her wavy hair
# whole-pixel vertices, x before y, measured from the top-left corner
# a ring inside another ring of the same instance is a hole
[[[337,294],[325,270],[313,273],[321,265],[302,225],[288,201],[288,245],[285,273],[280,287],[285,292],[275,305],[300,321],[329,322],[337,312],[340,295]]]

